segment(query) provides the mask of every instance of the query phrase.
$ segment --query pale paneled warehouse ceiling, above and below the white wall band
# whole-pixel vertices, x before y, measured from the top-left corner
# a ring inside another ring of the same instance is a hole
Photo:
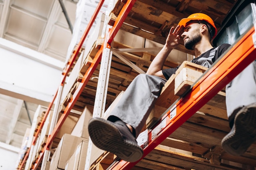
[[[72,26],[77,1],[63,0]],[[65,62],[72,32],[58,0],[0,0],[0,37]],[[20,147],[37,107],[0,94],[0,142]]]

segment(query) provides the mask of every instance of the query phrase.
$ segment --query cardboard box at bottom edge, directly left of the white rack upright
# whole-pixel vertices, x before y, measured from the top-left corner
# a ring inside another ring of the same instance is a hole
[[[84,170],[88,141],[82,141],[74,151],[73,155],[67,161],[65,170]]]

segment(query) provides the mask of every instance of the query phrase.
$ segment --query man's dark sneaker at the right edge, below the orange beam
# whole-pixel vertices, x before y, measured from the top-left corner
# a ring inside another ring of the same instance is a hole
[[[243,107],[235,116],[231,131],[222,139],[222,148],[231,155],[243,155],[256,141],[256,103]]]

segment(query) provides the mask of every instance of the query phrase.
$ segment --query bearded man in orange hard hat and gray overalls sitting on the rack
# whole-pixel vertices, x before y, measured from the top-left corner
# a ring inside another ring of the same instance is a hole
[[[214,48],[211,40],[216,35],[213,20],[203,13],[192,14],[182,19],[176,28],[172,27],[164,47],[152,61],[146,74],[139,74],[132,81],[108,119],[90,120],[88,131],[92,142],[125,161],[141,159],[143,150],[138,146],[136,138],[166,80],[177,70],[162,70],[168,54],[183,39],[185,48],[195,51],[195,59],[191,62],[209,68],[230,46],[222,44]],[[222,147],[233,155],[245,153],[256,139],[255,80],[256,61],[226,87],[227,115],[232,129],[222,139]]]

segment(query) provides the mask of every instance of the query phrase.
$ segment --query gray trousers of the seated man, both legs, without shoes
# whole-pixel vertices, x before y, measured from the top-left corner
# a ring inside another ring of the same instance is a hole
[[[148,74],[139,74],[124,92],[108,120],[123,120],[136,131],[136,137],[146,123],[150,111],[159,97],[166,79]],[[256,61],[238,74],[226,86],[227,115],[232,115],[243,106],[256,102]]]

